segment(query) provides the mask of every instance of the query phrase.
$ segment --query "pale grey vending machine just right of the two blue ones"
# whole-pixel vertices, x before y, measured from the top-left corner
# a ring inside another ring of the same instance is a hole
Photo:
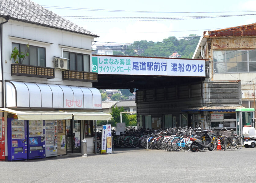
[[[46,157],[57,156],[57,120],[45,121]]]

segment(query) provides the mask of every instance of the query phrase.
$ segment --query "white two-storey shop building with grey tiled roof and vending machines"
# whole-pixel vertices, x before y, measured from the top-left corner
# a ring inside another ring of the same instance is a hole
[[[1,0],[0,7],[0,115],[8,131],[0,153],[6,160],[81,153],[84,138],[93,153],[94,121],[111,119],[98,111],[101,93],[92,87],[98,74],[91,69],[91,42],[99,36],[31,0]],[[29,56],[10,59],[17,51]],[[31,136],[38,147],[29,146]]]

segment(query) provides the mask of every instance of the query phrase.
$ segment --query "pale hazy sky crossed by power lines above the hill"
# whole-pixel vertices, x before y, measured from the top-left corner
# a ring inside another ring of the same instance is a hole
[[[47,8],[60,16],[93,16],[93,17],[176,17],[176,16],[220,16],[256,14],[256,0],[214,0],[214,1],[171,1],[171,0],[32,0],[39,5],[61,6],[78,9]],[[91,9],[91,10],[88,10]],[[100,11],[96,9],[101,9]],[[103,11],[105,10],[105,11]],[[106,11],[108,10],[108,11]],[[109,10],[123,10],[113,12]],[[135,11],[135,12],[124,12]],[[138,13],[138,11],[144,11]],[[145,13],[145,11],[150,13]],[[243,12],[238,12],[243,11]],[[158,12],[158,13],[155,13]],[[211,13],[160,13],[160,12],[211,12]],[[219,12],[219,13],[214,13]],[[223,13],[228,12],[228,13]],[[235,27],[256,22],[256,15],[205,18],[190,20],[157,20],[157,21],[106,21],[106,19],[68,19],[79,20],[74,23],[97,34],[97,44],[102,42],[133,43],[133,41],[163,41],[169,36],[189,34],[203,35],[204,30]],[[82,21],[81,21],[82,20]],[[116,20],[116,19],[115,19]],[[123,20],[123,19],[122,19]],[[189,30],[189,31],[188,31]]]

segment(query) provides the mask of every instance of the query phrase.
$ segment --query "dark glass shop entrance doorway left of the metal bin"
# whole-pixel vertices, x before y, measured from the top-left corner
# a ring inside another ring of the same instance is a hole
[[[66,124],[67,153],[81,152],[81,121],[70,120]]]

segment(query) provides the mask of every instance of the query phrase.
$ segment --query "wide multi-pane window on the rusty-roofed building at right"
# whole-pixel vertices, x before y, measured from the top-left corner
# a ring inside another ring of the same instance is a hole
[[[213,51],[216,73],[256,72],[256,50]]]

